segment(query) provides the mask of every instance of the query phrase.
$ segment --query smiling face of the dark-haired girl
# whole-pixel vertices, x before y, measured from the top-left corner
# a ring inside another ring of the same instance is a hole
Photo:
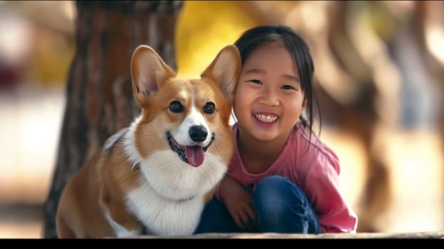
[[[248,55],[233,104],[243,135],[263,142],[286,141],[306,104],[296,64],[285,46],[271,43]]]

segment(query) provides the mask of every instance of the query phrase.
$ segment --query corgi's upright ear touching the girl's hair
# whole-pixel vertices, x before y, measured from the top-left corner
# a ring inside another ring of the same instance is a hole
[[[241,69],[240,53],[233,45],[225,46],[201,73],[201,78],[213,78],[227,97],[233,97]]]

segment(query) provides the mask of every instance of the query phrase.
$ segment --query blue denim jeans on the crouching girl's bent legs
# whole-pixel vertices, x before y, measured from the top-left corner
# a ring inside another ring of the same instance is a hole
[[[258,227],[243,230],[236,226],[223,203],[213,198],[194,233],[321,233],[316,212],[304,192],[283,176],[268,176],[253,194]]]

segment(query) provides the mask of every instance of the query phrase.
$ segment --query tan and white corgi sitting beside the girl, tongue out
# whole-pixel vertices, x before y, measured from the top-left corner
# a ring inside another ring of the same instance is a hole
[[[137,47],[130,69],[141,113],[66,184],[58,238],[192,235],[233,155],[240,68],[228,45],[200,79],[178,79],[152,48]]]

